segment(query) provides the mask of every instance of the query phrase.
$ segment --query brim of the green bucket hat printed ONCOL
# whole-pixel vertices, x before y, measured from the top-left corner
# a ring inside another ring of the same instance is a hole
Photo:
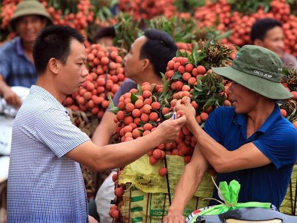
[[[211,68],[213,72],[233,80],[269,99],[289,99],[293,95],[281,84],[238,71],[232,67]]]

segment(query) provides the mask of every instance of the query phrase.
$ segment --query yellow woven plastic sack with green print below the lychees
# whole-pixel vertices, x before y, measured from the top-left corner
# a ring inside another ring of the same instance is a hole
[[[151,222],[159,223],[167,215],[169,209],[169,196],[166,177],[158,174],[163,164],[149,163],[149,156],[144,155],[139,160],[127,165],[119,176],[120,184],[126,184],[128,189],[123,196],[123,205],[120,207],[123,222]],[[167,155],[169,184],[171,199],[173,200],[176,185],[184,170],[184,158],[177,155]],[[212,196],[214,185],[211,176],[207,173],[195,196],[188,202],[184,216],[193,210],[208,205]]]

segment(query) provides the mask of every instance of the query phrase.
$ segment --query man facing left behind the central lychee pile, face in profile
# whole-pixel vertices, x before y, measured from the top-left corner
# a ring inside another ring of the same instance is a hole
[[[177,46],[167,33],[156,29],[145,30],[144,36],[134,41],[129,53],[124,58],[125,76],[129,79],[122,83],[114,95],[114,105],[117,106],[121,95],[129,92],[130,89],[137,88],[138,84],[142,85],[144,82],[162,84],[160,72],[166,72],[167,63],[176,55],[176,51]],[[114,117],[115,115],[109,109],[105,112],[92,137],[92,141],[97,146],[109,144],[116,129]],[[114,183],[111,175],[98,190],[95,198],[96,203],[91,201],[92,205],[97,205],[96,209],[102,222],[112,222],[112,218],[108,214],[110,200],[114,198]],[[92,215],[90,212],[89,214]]]

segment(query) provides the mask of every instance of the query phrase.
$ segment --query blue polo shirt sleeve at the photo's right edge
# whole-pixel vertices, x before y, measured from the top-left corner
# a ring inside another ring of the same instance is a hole
[[[297,131],[293,126],[279,126],[253,144],[279,169],[293,165],[297,158]]]

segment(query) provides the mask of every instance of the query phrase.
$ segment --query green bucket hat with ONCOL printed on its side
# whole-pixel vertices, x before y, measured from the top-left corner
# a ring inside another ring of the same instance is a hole
[[[212,70],[269,99],[293,97],[281,84],[281,59],[269,49],[245,45],[230,67],[212,68]]]

